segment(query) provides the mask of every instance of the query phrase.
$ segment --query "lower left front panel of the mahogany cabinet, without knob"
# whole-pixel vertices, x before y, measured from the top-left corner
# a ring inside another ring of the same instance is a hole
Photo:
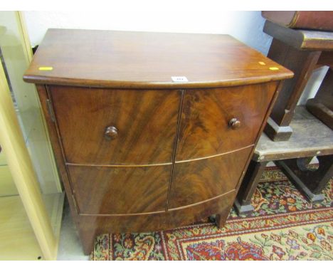
[[[150,167],[68,166],[80,214],[165,211],[171,164]]]

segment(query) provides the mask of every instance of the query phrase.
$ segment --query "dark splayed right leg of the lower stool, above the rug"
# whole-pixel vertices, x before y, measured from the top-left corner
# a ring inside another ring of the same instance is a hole
[[[308,168],[311,159],[284,159],[275,162],[282,172],[311,202],[322,202],[322,189],[333,177],[333,155],[317,157],[318,169]]]

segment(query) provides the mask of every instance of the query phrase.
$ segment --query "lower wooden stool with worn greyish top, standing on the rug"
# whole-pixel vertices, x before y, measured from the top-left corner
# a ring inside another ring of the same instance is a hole
[[[321,194],[333,176],[333,131],[298,106],[290,123],[293,133],[286,142],[273,142],[267,135],[260,137],[235,202],[238,214],[253,211],[250,199],[268,162],[274,161],[282,172],[312,202],[324,199]],[[308,164],[317,156],[319,168]]]

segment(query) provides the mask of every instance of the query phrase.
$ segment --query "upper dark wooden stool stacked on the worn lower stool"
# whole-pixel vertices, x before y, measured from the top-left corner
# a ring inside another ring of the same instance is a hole
[[[295,73],[284,81],[265,127],[271,140],[285,141],[292,135],[290,122],[312,70],[333,66],[333,33],[295,30],[270,21],[265,22],[263,31],[273,36],[268,58]]]

